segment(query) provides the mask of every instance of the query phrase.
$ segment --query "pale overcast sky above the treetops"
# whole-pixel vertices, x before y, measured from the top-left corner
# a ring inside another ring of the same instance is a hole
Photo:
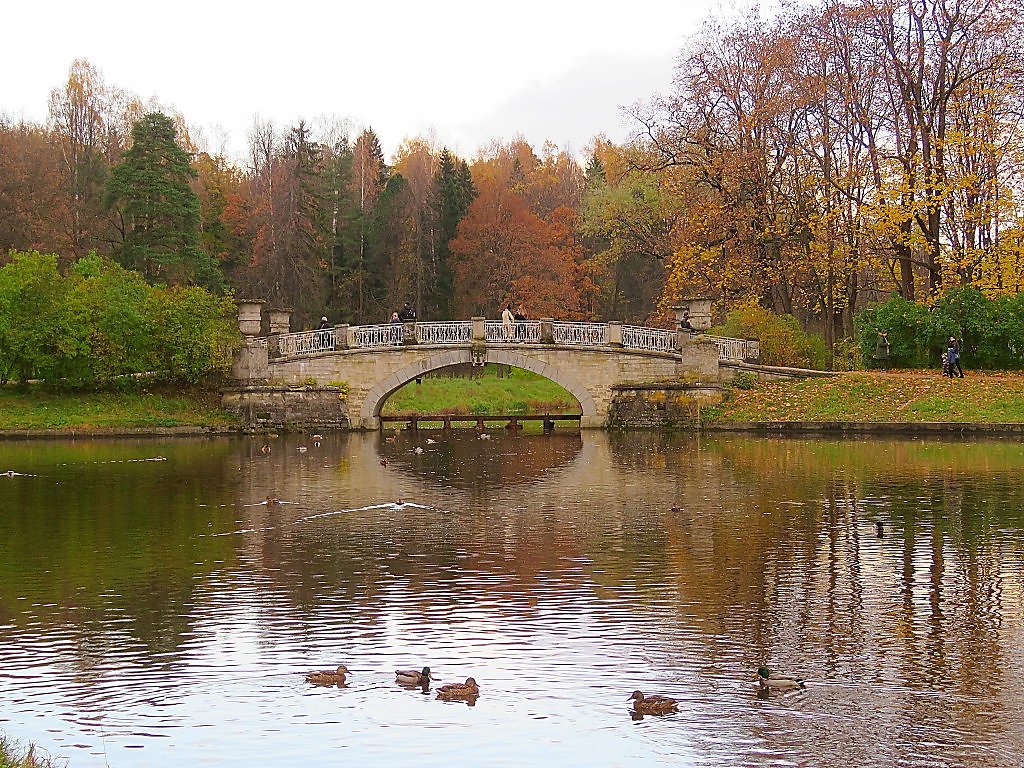
[[[84,57],[108,85],[179,111],[244,152],[256,116],[372,126],[385,155],[430,136],[472,157],[522,134],[579,154],[622,141],[621,109],[668,91],[676,54],[731,0],[12,2],[3,12],[0,113],[46,119]]]

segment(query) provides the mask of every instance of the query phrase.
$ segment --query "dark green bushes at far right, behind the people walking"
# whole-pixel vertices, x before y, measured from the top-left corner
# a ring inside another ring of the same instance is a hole
[[[979,369],[1024,369],[1024,296],[990,299],[972,286],[953,288],[931,307],[893,297],[857,315],[857,339],[872,360],[879,332],[889,334],[897,368],[937,368],[949,337],[961,341],[964,364]]]

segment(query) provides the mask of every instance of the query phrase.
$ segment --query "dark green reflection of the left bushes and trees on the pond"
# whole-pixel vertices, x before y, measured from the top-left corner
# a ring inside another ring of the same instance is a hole
[[[197,536],[233,517],[228,442],[18,447],[4,460],[35,476],[0,485],[0,623],[70,630],[83,673],[132,646],[172,660],[198,579],[233,559],[229,541]]]

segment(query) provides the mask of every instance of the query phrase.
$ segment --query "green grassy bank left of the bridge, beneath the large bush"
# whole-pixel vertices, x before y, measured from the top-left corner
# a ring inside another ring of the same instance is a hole
[[[0,388],[0,430],[223,427],[236,424],[213,394],[28,392]]]

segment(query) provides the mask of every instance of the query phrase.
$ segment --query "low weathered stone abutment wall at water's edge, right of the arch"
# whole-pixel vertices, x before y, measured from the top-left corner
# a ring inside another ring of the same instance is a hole
[[[700,410],[722,401],[707,384],[621,385],[608,411],[609,429],[695,429]]]

